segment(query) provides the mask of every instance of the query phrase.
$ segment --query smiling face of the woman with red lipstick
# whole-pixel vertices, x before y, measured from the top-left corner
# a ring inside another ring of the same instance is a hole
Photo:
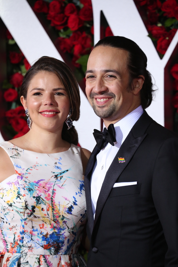
[[[70,110],[69,96],[53,72],[40,71],[30,81],[27,98],[21,96],[25,109],[32,120],[31,128],[47,131],[62,129]]]

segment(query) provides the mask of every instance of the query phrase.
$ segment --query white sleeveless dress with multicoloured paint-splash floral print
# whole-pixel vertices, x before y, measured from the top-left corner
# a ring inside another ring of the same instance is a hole
[[[53,154],[7,152],[16,174],[0,183],[0,267],[83,267],[86,223],[80,147]]]

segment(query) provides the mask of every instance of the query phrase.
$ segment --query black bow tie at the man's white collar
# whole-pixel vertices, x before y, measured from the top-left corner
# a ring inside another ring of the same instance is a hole
[[[109,124],[108,129],[104,128],[103,132],[94,129],[93,136],[98,150],[103,149],[108,143],[114,146],[114,142],[116,142],[114,124]]]

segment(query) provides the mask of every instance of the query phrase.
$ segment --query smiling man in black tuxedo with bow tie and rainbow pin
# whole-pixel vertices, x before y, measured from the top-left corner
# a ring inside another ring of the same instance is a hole
[[[86,94],[104,133],[85,172],[88,267],[178,266],[178,136],[144,110],[152,101],[147,57],[120,36],[89,56]]]

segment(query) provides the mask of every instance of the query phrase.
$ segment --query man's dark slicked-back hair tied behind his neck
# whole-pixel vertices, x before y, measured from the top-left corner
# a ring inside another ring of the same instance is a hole
[[[151,74],[147,71],[147,57],[142,49],[132,40],[122,36],[108,36],[97,42],[94,46],[109,46],[128,51],[127,67],[129,71],[129,89],[132,88],[134,78],[144,76],[144,83],[140,91],[141,105],[143,109],[150,106],[153,98],[153,84]],[[142,78],[142,77],[140,77]]]

